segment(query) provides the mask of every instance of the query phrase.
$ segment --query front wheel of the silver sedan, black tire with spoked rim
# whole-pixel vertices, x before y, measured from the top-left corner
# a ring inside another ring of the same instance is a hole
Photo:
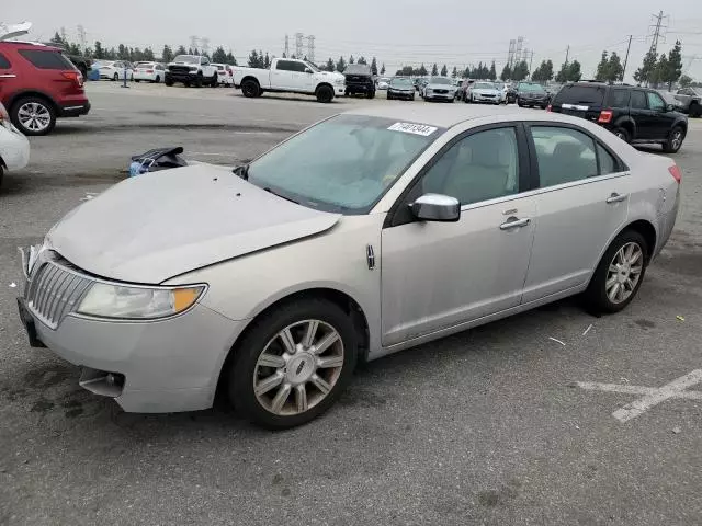
[[[316,344],[333,334],[332,331],[336,332],[337,340],[320,354],[320,358],[337,358],[336,366],[316,368],[313,365],[316,363],[315,345],[306,347],[304,342],[310,327],[308,321],[317,322],[313,339]],[[290,346],[284,344],[281,336],[286,329],[292,336]],[[293,353],[286,350],[293,350]],[[253,321],[237,344],[231,366],[226,371],[229,400],[242,416],[263,427],[281,430],[304,424],[319,416],[339,398],[353,375],[356,350],[353,323],[337,305],[321,299],[284,304]],[[264,354],[271,365],[261,365],[260,358]],[[268,391],[259,390],[257,395],[254,386],[262,388],[265,385],[261,378],[265,380],[278,374],[281,375],[281,381],[273,381]],[[318,384],[317,378],[324,382]],[[329,387],[325,395],[324,390]],[[304,404],[297,405],[302,401],[302,390],[309,405],[307,410],[301,408]],[[281,399],[282,404],[276,407],[275,402]]]

